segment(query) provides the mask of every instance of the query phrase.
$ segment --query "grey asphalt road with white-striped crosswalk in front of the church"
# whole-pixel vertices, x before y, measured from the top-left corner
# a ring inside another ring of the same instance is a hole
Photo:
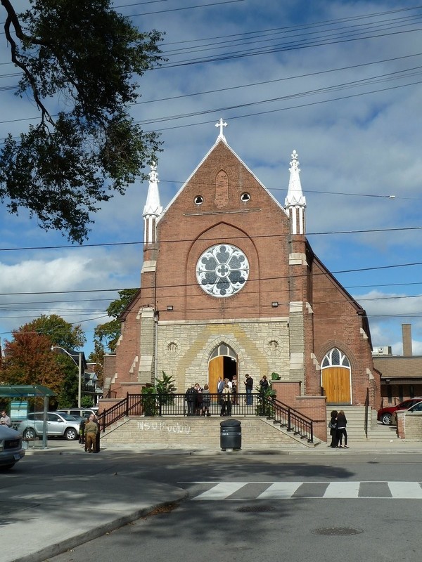
[[[397,562],[418,556],[419,452],[330,451],[315,456],[109,451],[92,457],[77,452],[65,459],[33,457],[27,469],[38,467],[50,479],[57,474],[59,485],[72,473],[92,475],[98,483],[94,490],[109,484],[101,491],[108,498],[118,496],[118,489],[110,488],[117,472],[132,483],[132,505],[146,478],[152,487],[170,485],[182,493],[167,507],[113,532],[89,542],[85,537],[84,544],[50,556],[49,562]],[[24,480],[30,476],[27,469]],[[92,483],[92,478],[87,481]],[[84,521],[101,513],[96,495],[94,507],[87,490],[77,499],[86,502]]]

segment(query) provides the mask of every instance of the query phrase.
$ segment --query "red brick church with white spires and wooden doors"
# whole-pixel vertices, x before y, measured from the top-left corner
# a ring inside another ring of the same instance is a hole
[[[298,153],[283,207],[229,146],[225,125],[165,209],[151,167],[141,286],[121,318],[108,396],[139,393],[163,371],[177,393],[276,373],[328,407],[378,408],[366,313],[307,241]]]

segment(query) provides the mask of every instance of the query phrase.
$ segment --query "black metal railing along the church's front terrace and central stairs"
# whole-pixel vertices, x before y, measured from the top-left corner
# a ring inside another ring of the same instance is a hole
[[[209,394],[207,413],[211,416],[222,414],[221,395]],[[128,416],[196,416],[204,413],[203,400],[189,402],[185,394],[127,394],[126,398],[104,410],[98,416],[101,431],[115,421]],[[261,393],[238,393],[231,396],[231,415],[236,417],[260,416],[272,419],[274,423],[291,431],[294,435],[314,441],[312,419],[300,414],[294,408],[274,398],[266,398]]]

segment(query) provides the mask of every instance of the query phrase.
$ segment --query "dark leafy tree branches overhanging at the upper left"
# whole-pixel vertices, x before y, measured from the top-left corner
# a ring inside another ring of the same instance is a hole
[[[140,95],[134,77],[162,61],[162,34],[140,33],[110,0],[31,0],[20,15],[13,0],[0,3],[11,60],[23,72],[18,95],[29,93],[40,115],[19,140],[6,138],[0,201],[81,243],[90,214],[124,193],[160,150],[158,135],[134,123],[129,105]]]

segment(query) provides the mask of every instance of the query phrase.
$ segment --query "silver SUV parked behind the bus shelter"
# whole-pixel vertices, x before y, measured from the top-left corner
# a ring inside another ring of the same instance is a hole
[[[25,439],[42,436],[44,412],[28,414],[27,419],[20,422],[18,431]],[[69,414],[47,412],[47,436],[64,437],[69,441],[79,438],[79,421]]]

